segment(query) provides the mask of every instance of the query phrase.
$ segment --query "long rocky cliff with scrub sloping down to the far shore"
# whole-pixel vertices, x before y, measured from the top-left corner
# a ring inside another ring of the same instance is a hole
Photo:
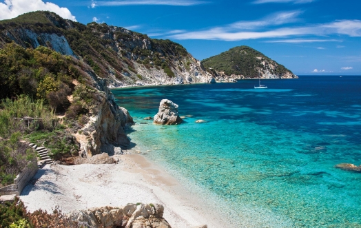
[[[125,28],[65,20],[53,12],[30,12],[0,21],[0,47],[16,42],[76,56],[108,86],[214,83],[214,75],[178,43],[150,39]]]

